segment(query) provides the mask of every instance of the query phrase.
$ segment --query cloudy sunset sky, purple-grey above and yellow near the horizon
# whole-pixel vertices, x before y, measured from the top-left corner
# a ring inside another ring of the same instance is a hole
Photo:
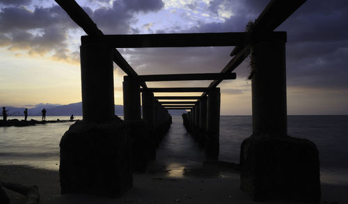
[[[77,0],[77,3],[104,34],[145,34],[243,32],[269,0]],[[309,0],[276,29],[287,31],[288,114],[348,114],[347,22],[348,1]],[[0,0],[0,106],[80,102],[79,46],[80,36],[84,35],[53,0]],[[138,74],[177,74],[221,72],[231,59],[232,49],[118,51]],[[237,79],[219,85],[221,115],[251,115],[249,61],[246,58],[235,70]],[[122,104],[124,75],[114,64],[116,104]],[[210,82],[147,84],[200,87]]]

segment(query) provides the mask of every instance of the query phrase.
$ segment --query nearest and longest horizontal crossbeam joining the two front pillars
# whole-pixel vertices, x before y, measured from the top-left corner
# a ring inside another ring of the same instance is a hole
[[[81,36],[82,43],[102,42],[114,48],[237,46],[246,39],[244,32]]]

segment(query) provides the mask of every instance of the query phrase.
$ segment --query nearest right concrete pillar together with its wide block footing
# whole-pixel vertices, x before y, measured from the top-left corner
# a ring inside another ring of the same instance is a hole
[[[317,203],[319,153],[307,139],[287,136],[285,39],[251,48],[253,135],[241,147],[241,189],[253,201]]]

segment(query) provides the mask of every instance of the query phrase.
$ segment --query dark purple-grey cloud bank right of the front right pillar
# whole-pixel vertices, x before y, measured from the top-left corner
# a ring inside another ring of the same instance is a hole
[[[287,31],[290,86],[347,89],[347,1],[308,1],[278,30]]]

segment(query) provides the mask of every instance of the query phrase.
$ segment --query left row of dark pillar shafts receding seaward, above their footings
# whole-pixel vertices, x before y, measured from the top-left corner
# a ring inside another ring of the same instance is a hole
[[[80,47],[82,112],[86,122],[104,123],[115,118],[113,87],[113,49],[103,43]],[[132,78],[123,81],[124,120],[141,120],[140,84]],[[171,116],[153,93],[143,93],[143,119],[152,130],[159,130]]]

